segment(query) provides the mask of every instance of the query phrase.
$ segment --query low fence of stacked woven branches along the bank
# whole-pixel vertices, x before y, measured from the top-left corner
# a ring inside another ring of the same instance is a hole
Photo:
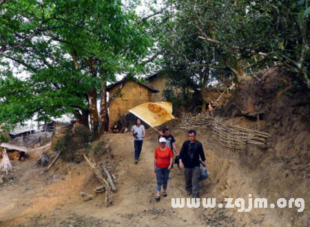
[[[243,149],[246,144],[265,144],[268,133],[229,125],[223,118],[208,114],[183,114],[180,120],[180,129],[209,129],[213,132],[212,138],[231,149]]]

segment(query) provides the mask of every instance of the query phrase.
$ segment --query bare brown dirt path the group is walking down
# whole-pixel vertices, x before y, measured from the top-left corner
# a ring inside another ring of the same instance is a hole
[[[280,222],[272,213],[270,217],[265,217],[264,210],[245,214],[217,206],[172,208],[172,198],[187,198],[184,170],[177,166],[169,175],[172,180],[168,182],[168,196],[155,202],[153,163],[154,151],[158,146],[156,138],[157,134],[147,135],[141,160],[135,164],[134,142],[129,134],[104,136],[110,144],[112,160],[110,155],[106,155],[106,160],[100,162],[114,164],[111,171],[116,175],[118,188],[117,198],[108,208],[104,204],[104,193],[87,202],[81,197],[81,192],[95,195],[93,190],[100,185],[85,162],[68,164],[59,160],[49,173],[44,174],[43,168],[36,166],[35,162],[49,145],[33,149],[25,162],[13,162],[13,179],[0,188],[0,226],[281,226],[277,225]],[[209,137],[205,135],[205,138]],[[179,135],[178,140],[183,140],[182,136]],[[182,142],[178,141],[179,149],[180,144]],[[238,184],[240,175],[244,177],[242,182],[246,182],[244,173],[231,172],[235,176],[231,175],[230,181],[223,178],[229,171],[231,161],[212,154],[212,150],[218,149],[216,144],[208,142],[204,147],[212,176],[200,184],[200,198],[213,197],[224,202],[224,197],[236,197],[232,194],[235,189],[229,188],[234,187],[230,182],[235,180]],[[242,184],[242,192],[247,193],[247,184]],[[240,194],[240,191],[235,190],[235,193]]]

